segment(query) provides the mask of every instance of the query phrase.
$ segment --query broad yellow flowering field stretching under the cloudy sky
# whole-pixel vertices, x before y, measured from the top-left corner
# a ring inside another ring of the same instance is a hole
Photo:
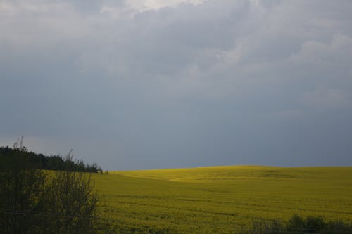
[[[94,175],[113,223],[131,233],[235,233],[292,214],[352,220],[352,167],[203,167]]]

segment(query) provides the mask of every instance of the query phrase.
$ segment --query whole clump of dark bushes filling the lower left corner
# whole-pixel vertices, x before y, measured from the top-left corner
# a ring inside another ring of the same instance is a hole
[[[99,197],[88,174],[71,171],[70,155],[65,171],[56,173],[41,170],[23,148],[4,148],[0,156],[1,233],[97,233],[101,228]]]

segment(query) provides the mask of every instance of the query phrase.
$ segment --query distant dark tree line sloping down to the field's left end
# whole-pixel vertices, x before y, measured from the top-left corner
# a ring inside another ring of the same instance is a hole
[[[96,163],[84,164],[83,160],[76,161],[72,158],[65,159],[59,155],[45,156],[40,153],[29,152],[27,148],[22,145],[20,148],[10,148],[8,146],[0,147],[0,158],[1,160],[4,160],[4,162],[6,162],[6,160],[13,160],[13,157],[19,157],[19,155],[25,157],[23,160],[25,160],[32,169],[64,171],[69,168],[70,171],[78,172],[102,172],[101,167]]]

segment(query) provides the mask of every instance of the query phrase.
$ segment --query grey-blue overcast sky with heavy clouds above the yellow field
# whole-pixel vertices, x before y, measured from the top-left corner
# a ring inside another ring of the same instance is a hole
[[[0,0],[0,145],[104,170],[352,166],[351,0]]]

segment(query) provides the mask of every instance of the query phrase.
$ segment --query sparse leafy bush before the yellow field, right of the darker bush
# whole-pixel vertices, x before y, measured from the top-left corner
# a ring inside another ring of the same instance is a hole
[[[49,219],[46,233],[95,233],[98,197],[90,178],[82,173],[58,171],[46,186]]]

